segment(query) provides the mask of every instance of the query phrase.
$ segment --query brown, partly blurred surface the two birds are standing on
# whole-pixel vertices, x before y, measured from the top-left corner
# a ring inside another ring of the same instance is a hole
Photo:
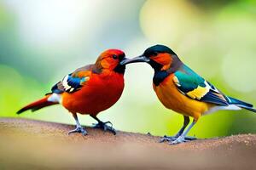
[[[160,137],[87,127],[67,136],[71,125],[0,119],[0,169],[253,169],[256,135],[160,144]]]

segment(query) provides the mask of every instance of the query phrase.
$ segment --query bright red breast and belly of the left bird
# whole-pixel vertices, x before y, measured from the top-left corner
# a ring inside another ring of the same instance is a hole
[[[82,89],[73,94],[62,94],[62,105],[71,112],[96,115],[114,105],[124,87],[122,74],[114,71],[93,73]]]

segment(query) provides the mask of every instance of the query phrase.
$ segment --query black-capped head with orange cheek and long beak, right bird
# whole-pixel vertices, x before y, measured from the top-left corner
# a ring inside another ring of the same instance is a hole
[[[182,65],[180,59],[178,59],[177,54],[175,54],[171,48],[164,45],[154,45],[147,48],[144,53],[133,59],[125,59],[120,64],[127,65],[130,63],[146,62],[152,66],[154,71],[166,71],[176,68]]]

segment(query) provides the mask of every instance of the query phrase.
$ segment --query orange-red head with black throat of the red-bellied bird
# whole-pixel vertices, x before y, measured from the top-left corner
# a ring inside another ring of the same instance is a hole
[[[120,65],[120,62],[125,59],[125,53],[123,51],[119,49],[108,49],[98,57],[96,65],[101,69],[124,74],[125,65]]]

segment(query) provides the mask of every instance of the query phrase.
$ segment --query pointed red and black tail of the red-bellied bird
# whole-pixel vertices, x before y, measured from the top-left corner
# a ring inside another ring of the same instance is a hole
[[[51,96],[51,94],[46,95],[43,99],[38,99],[37,101],[35,101],[29,105],[26,105],[25,107],[21,108],[20,111],[17,111],[17,114],[20,114],[20,113],[22,113],[24,111],[28,111],[28,110],[38,111],[39,109],[42,109],[46,106],[58,104],[58,102],[49,101],[48,100],[49,96]]]

